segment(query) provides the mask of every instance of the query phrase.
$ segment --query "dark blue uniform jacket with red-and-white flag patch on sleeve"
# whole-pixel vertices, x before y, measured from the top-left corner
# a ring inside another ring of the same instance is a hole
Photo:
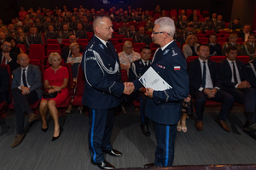
[[[186,60],[174,41],[160,55],[157,51],[155,54],[151,66],[172,88],[164,91],[154,90],[153,99],[147,99],[146,116],[160,124],[174,125],[180,119],[182,100],[189,96]],[[142,88],[142,84],[137,80],[134,85],[136,90]]]

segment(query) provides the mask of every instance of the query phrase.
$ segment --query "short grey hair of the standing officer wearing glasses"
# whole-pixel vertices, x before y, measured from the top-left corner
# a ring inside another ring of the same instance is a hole
[[[171,37],[175,33],[174,21],[169,17],[162,17],[154,21],[154,25],[158,24],[160,26],[160,31],[166,31]]]

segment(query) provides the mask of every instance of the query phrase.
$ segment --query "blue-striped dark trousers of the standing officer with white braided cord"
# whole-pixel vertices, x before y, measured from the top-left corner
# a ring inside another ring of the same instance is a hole
[[[112,150],[110,136],[113,128],[113,114],[114,109],[90,109],[89,151],[95,162],[104,161],[103,150]]]

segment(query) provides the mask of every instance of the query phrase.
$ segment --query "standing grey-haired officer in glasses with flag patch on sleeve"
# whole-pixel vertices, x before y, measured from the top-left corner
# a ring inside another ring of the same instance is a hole
[[[154,122],[157,147],[154,163],[144,167],[172,166],[174,156],[174,140],[177,122],[180,120],[182,100],[189,96],[189,75],[183,52],[173,40],[175,33],[174,21],[162,17],[154,21],[152,39],[160,48],[154,54],[151,67],[172,88],[154,90],[146,88],[146,116]],[[134,81],[135,89],[142,84]],[[132,86],[131,83],[128,86]]]

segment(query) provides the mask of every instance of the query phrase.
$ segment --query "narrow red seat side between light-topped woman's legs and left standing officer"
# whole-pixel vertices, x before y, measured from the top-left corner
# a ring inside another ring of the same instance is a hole
[[[83,98],[83,94],[84,94],[85,77],[84,77],[84,70],[82,69],[81,65],[79,65],[78,79],[77,80],[78,80],[78,82],[77,82],[77,94],[75,94],[72,105],[83,105],[82,104],[82,98]]]

